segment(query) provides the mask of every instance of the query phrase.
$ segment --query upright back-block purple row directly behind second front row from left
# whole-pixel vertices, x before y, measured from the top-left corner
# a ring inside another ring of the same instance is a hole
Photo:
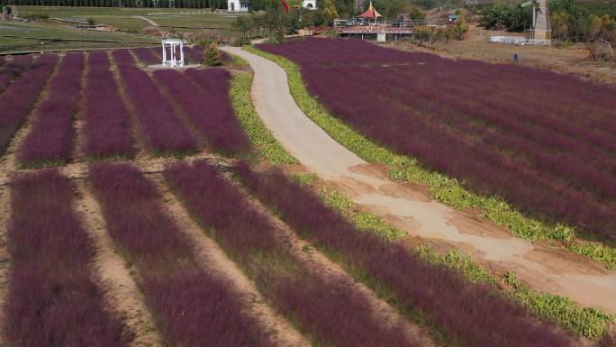
[[[130,155],[131,114],[118,94],[109,59],[104,52],[93,52],[87,66],[84,152],[92,158]]]

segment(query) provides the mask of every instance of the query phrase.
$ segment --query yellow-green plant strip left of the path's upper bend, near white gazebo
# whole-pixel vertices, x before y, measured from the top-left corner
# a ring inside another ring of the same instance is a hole
[[[235,65],[248,64],[240,57],[234,56],[233,59]],[[249,72],[240,72],[231,78],[231,105],[250,142],[263,158],[274,164],[299,164],[299,161],[276,141],[261,122],[250,101],[250,86],[252,86],[252,74]]]

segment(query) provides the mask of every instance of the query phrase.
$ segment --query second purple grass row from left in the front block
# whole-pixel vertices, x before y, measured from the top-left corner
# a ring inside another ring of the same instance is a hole
[[[231,285],[200,268],[191,241],[138,169],[97,164],[90,168],[90,178],[109,233],[139,271],[138,285],[165,344],[267,345],[255,322],[243,314]]]

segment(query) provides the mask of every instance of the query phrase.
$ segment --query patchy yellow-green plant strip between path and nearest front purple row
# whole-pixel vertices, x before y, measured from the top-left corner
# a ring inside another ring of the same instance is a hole
[[[298,176],[295,175],[294,178],[302,184],[310,184],[306,183],[306,178]],[[376,233],[390,241],[405,234],[393,225],[387,224],[377,215],[356,212],[353,209],[353,202],[336,189],[323,187],[319,193],[326,205],[344,215],[349,222],[361,230]],[[493,287],[498,287],[501,283],[501,288],[504,288],[503,292],[513,301],[528,309],[532,315],[555,322],[578,336],[599,340],[608,332],[608,325],[616,323],[616,315],[608,315],[591,307],[578,306],[568,297],[559,297],[530,289],[522,284],[511,271],[497,278],[459,251],[440,254],[426,245],[417,247],[415,251],[425,260],[457,269],[473,283],[484,283]]]

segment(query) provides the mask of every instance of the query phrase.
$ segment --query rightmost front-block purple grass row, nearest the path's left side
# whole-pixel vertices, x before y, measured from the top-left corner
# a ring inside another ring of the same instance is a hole
[[[452,346],[575,345],[554,324],[533,318],[493,288],[469,283],[452,269],[421,260],[401,244],[359,231],[282,171],[259,174],[242,161],[235,173],[300,236],[365,274],[368,286],[378,283],[385,288],[401,311],[427,318]]]

